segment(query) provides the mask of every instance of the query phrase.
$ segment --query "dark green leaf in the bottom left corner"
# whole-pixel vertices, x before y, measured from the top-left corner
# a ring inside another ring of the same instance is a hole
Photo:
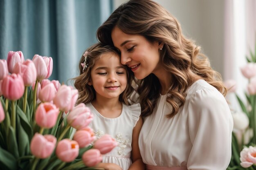
[[[0,167],[4,170],[17,170],[17,163],[15,157],[7,150],[0,147]]]

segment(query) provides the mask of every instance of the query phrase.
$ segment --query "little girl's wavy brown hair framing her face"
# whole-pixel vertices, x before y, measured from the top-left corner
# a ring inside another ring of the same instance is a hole
[[[83,66],[81,63],[85,61],[85,57],[82,55],[80,61],[79,61],[79,71],[80,75],[78,77],[75,77],[73,80],[74,86],[79,91],[79,97],[76,102],[76,104],[79,103],[88,103],[92,102],[94,99],[96,99],[96,93],[93,88],[93,86],[90,86],[88,82],[91,80],[91,70],[94,66],[95,62],[100,59],[101,55],[104,53],[114,53],[115,55],[119,55],[117,50],[110,45],[104,45],[102,43],[94,44],[93,46],[90,46],[86,51],[88,51],[86,64],[88,64],[88,67],[83,71]],[[126,74],[127,74],[127,86],[123,93],[119,96],[119,100],[121,102],[124,102],[125,104],[130,105],[129,98],[132,92],[134,91],[134,88],[130,86],[132,84],[132,81],[134,80],[134,74],[130,69],[126,68]]]

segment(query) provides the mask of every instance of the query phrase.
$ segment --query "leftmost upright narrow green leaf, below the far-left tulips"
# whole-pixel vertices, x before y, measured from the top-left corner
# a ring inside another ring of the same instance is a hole
[[[18,144],[13,127],[9,126],[9,135],[7,137],[7,149],[16,158],[19,157]]]

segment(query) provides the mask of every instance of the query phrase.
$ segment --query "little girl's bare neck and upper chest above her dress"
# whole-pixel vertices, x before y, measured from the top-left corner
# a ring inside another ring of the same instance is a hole
[[[116,118],[121,115],[122,102],[119,99],[95,99],[92,106],[103,116],[107,118]]]

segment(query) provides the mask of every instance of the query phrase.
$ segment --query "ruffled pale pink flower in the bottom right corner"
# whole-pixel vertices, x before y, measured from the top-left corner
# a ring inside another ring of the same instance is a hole
[[[256,164],[256,147],[249,146],[249,148],[245,147],[240,152],[240,165],[244,168],[248,168],[252,166],[252,164]]]

